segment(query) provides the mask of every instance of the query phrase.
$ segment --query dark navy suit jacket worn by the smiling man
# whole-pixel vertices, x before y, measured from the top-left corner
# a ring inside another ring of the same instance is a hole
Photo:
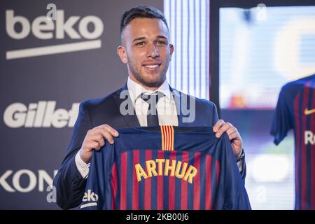
[[[57,204],[62,209],[77,207],[84,195],[86,179],[83,179],[80,172],[78,172],[75,156],[83,144],[87,131],[104,124],[108,124],[116,130],[125,127],[140,127],[136,113],[125,116],[120,113],[120,104],[125,101],[125,99],[120,99],[120,93],[123,90],[127,90],[127,85],[109,94],[107,97],[90,99],[80,104],[78,119],[73,127],[66,157],[53,181],[53,186],[56,188]],[[178,90],[172,89],[172,87],[170,87],[170,90],[176,103],[179,126],[213,126],[216,123],[218,113],[213,102],[183,94]],[[182,109],[189,109],[189,99],[193,98],[195,99],[195,120],[191,123],[185,123],[183,118],[191,115]],[[128,96],[127,100],[130,100]],[[241,174],[245,178],[245,162],[243,162]]]

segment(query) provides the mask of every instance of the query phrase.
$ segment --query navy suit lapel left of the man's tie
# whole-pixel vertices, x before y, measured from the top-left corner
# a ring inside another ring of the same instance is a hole
[[[122,98],[120,98],[120,96]],[[113,98],[115,99],[116,104],[117,104],[117,108],[118,108],[117,114],[119,116],[123,117],[127,126],[128,127],[140,127],[139,120],[137,118],[136,112],[134,111],[134,106],[130,100],[130,94],[129,94],[128,89],[127,89],[127,83],[122,88],[120,88],[120,90],[117,90],[115,92],[115,94],[113,94]],[[128,111],[130,111],[131,114],[127,113],[126,115],[123,115],[122,113],[120,113],[120,105],[121,104],[127,105],[127,107],[125,107],[125,108]],[[129,108],[129,106],[131,106],[132,108]]]

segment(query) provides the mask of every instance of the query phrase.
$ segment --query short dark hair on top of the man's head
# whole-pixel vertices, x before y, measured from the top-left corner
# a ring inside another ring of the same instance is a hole
[[[130,10],[125,11],[123,16],[121,17],[120,34],[122,34],[125,27],[136,18],[160,19],[165,23],[167,29],[169,29],[164,14],[160,10],[158,10],[158,8],[155,8],[153,6],[136,6]]]

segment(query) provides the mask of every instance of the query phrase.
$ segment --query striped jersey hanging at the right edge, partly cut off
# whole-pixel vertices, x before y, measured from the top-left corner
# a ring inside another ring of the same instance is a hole
[[[278,145],[295,137],[295,209],[315,209],[315,74],[281,88],[271,134]]]

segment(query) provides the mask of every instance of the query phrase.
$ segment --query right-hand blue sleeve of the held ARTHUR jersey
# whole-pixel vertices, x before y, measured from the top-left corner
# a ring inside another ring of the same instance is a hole
[[[221,155],[218,157],[219,176],[218,191],[214,209],[249,210],[251,204],[245,189],[244,179],[241,178],[235,155],[227,134],[223,134],[218,141]]]

